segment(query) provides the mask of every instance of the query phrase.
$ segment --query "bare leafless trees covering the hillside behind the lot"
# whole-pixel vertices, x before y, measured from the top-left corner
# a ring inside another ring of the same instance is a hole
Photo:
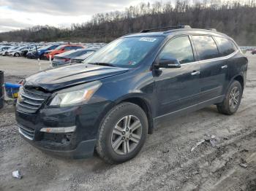
[[[124,11],[100,13],[89,22],[70,28],[34,26],[0,34],[8,42],[110,42],[119,36],[145,28],[189,25],[192,28],[216,28],[240,45],[256,45],[256,1],[177,0],[140,3]]]

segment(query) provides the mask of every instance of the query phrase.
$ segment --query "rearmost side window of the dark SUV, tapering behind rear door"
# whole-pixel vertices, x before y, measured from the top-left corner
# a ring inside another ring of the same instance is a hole
[[[214,37],[216,39],[218,47],[219,47],[219,54],[221,56],[230,55],[236,51],[236,45],[233,44],[229,39],[225,39],[222,37]]]

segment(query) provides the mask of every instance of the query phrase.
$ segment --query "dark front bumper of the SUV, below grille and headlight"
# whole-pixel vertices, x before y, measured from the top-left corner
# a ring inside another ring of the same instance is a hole
[[[63,157],[90,157],[94,153],[99,123],[108,111],[110,101],[82,106],[39,109],[35,114],[18,112],[20,135],[42,151]],[[48,133],[42,128],[69,128],[74,132]]]

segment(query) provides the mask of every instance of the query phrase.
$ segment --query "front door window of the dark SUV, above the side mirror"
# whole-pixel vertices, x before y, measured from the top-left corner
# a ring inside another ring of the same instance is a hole
[[[176,58],[182,63],[194,61],[193,50],[188,36],[181,36],[168,42],[159,58]]]

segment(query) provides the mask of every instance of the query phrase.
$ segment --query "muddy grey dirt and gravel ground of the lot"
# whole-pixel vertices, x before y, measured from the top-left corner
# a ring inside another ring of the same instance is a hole
[[[209,106],[165,122],[137,157],[121,165],[97,156],[65,160],[40,152],[20,138],[14,109],[7,105],[0,110],[0,190],[256,190],[256,56],[248,57],[236,114],[225,116]],[[34,60],[0,57],[6,81],[17,82],[38,68]],[[191,152],[208,135],[217,143],[205,141]],[[12,178],[15,170],[23,179]]]

